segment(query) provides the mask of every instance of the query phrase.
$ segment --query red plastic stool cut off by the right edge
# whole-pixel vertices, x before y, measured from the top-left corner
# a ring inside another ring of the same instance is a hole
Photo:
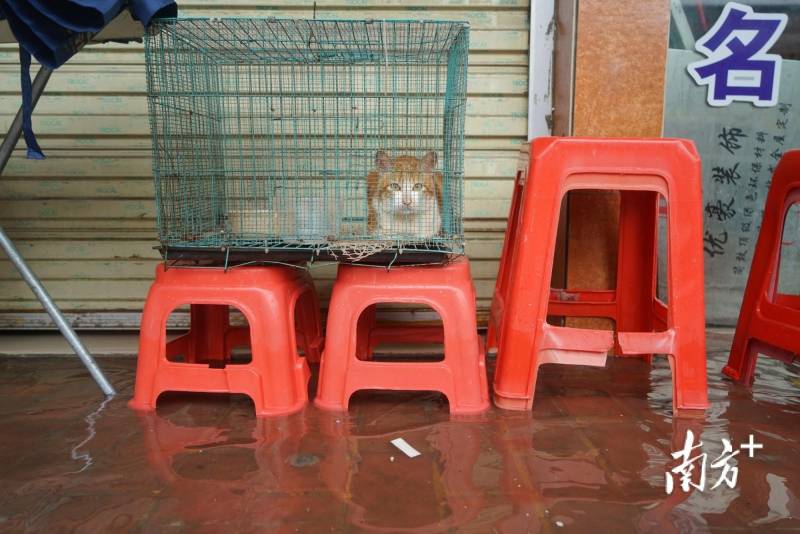
[[[792,362],[800,354],[800,296],[778,292],[783,225],[800,203],[800,150],[787,151],[772,176],[736,334],[723,373],[750,385],[758,354]]]

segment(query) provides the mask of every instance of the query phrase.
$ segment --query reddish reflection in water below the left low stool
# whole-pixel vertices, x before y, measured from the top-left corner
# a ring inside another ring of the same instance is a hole
[[[164,404],[137,413],[148,464],[166,482],[151,520],[267,528],[308,513],[319,450],[302,414],[257,419],[242,402],[220,418],[181,397]]]

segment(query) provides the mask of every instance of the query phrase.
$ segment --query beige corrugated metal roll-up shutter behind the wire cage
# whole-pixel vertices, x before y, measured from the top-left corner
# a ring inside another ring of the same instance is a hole
[[[310,17],[293,0],[181,2],[184,15]],[[318,18],[467,20],[470,78],[466,123],[467,252],[480,314],[488,310],[516,170],[525,141],[527,0],[331,0]],[[20,103],[15,46],[0,47],[0,129]],[[80,52],[50,79],[34,114],[47,154],[17,149],[0,178],[0,224],[79,327],[138,325],[158,254],[142,46]],[[22,145],[22,143],[20,143]],[[327,297],[333,267],[315,269]],[[0,259],[0,328],[48,326],[25,283]]]

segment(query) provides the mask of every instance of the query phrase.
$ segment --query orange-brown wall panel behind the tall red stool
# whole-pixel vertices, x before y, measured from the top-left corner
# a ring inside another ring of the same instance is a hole
[[[658,137],[668,0],[578,0],[572,135]],[[619,195],[569,199],[568,287],[616,283]]]

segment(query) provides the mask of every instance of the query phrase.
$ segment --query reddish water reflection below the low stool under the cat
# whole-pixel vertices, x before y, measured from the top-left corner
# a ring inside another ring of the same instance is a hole
[[[443,421],[365,433],[348,418],[323,415],[321,423],[334,447],[322,462],[321,478],[345,505],[351,525],[379,532],[442,532],[479,513],[483,499],[474,481],[481,449],[478,424]],[[396,437],[421,455],[408,458],[394,449],[389,442]]]

